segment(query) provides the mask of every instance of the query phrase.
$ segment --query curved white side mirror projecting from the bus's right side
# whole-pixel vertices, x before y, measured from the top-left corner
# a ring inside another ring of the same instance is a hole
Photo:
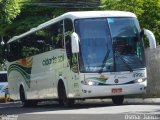
[[[147,38],[149,39],[149,47],[151,49],[156,48],[156,39],[152,31],[144,29],[144,35],[146,35]]]

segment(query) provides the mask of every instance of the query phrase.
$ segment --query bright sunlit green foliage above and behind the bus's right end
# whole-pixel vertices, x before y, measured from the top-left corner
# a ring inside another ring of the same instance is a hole
[[[122,10],[135,13],[141,28],[153,31],[157,43],[160,43],[160,0],[101,0],[101,3],[101,10]]]

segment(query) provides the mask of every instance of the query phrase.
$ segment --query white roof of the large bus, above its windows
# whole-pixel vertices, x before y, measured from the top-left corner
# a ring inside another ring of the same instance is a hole
[[[42,29],[44,27],[47,27],[53,23],[56,23],[60,20],[63,20],[65,18],[70,18],[72,20],[75,19],[84,19],[84,18],[98,18],[98,17],[136,17],[135,14],[131,12],[125,12],[125,11],[81,11],[81,12],[67,12],[59,17],[56,17],[54,19],[51,19],[45,23],[40,24],[39,26],[30,29],[28,32],[25,32],[19,36],[14,36],[11,38],[7,43],[11,43],[19,38],[22,38],[24,36],[27,36],[39,29]]]

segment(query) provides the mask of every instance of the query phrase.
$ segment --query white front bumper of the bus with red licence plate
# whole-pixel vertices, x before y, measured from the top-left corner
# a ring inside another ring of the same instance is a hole
[[[82,86],[81,98],[133,95],[146,93],[146,82],[129,85]]]

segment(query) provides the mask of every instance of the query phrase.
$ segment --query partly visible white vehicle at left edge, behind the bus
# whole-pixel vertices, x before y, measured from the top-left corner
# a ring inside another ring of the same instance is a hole
[[[8,91],[7,71],[0,71],[0,101],[7,99],[6,91]]]

